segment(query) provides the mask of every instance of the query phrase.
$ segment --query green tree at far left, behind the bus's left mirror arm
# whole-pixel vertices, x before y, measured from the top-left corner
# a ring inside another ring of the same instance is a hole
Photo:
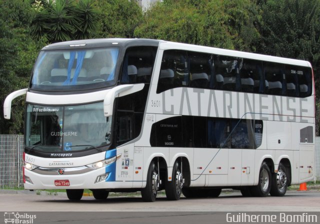
[[[35,43],[29,35],[32,17],[29,2],[0,0],[0,102],[12,91],[27,87],[31,69],[43,42]],[[24,100],[12,102],[10,120],[0,110],[0,133],[23,133]]]

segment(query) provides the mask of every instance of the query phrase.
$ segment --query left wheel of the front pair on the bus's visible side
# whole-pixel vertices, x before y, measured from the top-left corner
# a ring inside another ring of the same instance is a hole
[[[146,177],[146,186],[141,190],[142,200],[146,202],[155,201],[157,190],[159,184],[159,172],[158,167],[155,165],[154,161],[151,161],[147,177]]]

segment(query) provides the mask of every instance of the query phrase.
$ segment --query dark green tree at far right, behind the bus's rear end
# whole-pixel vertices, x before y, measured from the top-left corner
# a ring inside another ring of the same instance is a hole
[[[264,54],[311,62],[315,85],[320,84],[320,0],[260,1],[261,43]],[[316,135],[319,134],[320,89],[317,96]]]

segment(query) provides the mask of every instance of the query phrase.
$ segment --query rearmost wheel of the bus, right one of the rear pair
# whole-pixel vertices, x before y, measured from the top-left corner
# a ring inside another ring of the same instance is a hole
[[[271,196],[283,196],[288,186],[287,169],[283,164],[279,164],[278,171],[272,173]]]

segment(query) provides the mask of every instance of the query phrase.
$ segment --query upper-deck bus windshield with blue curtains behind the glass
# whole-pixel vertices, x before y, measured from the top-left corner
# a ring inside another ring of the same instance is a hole
[[[83,90],[112,86],[118,48],[42,50],[35,63],[30,88]]]

